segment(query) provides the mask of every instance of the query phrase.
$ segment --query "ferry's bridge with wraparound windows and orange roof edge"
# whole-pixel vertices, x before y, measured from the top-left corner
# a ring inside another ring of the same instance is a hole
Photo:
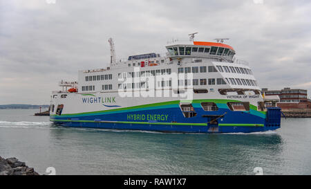
[[[194,42],[194,44],[174,44],[166,46],[169,57],[213,57],[233,62],[234,48],[215,42]]]

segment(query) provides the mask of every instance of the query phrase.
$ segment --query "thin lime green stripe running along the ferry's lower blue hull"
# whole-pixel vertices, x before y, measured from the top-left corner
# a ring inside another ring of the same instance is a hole
[[[207,123],[149,123],[149,122],[133,122],[133,121],[111,121],[111,120],[55,120],[50,119],[50,121],[55,122],[78,122],[78,123],[124,123],[124,124],[146,124],[146,125],[189,125],[189,126],[207,126]],[[220,127],[264,127],[263,124],[236,124],[236,123],[220,123]]]

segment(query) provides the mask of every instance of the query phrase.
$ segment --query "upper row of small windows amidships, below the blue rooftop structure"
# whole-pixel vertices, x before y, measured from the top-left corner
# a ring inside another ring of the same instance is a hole
[[[117,78],[139,78],[139,77],[149,77],[153,75],[171,75],[171,69],[157,69],[151,71],[138,71],[138,72],[123,72],[118,73]]]

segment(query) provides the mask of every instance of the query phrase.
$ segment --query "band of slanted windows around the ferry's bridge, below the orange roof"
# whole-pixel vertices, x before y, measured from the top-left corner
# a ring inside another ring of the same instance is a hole
[[[223,55],[223,56],[234,56],[234,51],[231,51],[229,48],[211,46],[211,48],[203,47],[191,47],[191,46],[179,46],[167,48],[171,55],[191,55],[191,53],[202,53],[206,55]]]

